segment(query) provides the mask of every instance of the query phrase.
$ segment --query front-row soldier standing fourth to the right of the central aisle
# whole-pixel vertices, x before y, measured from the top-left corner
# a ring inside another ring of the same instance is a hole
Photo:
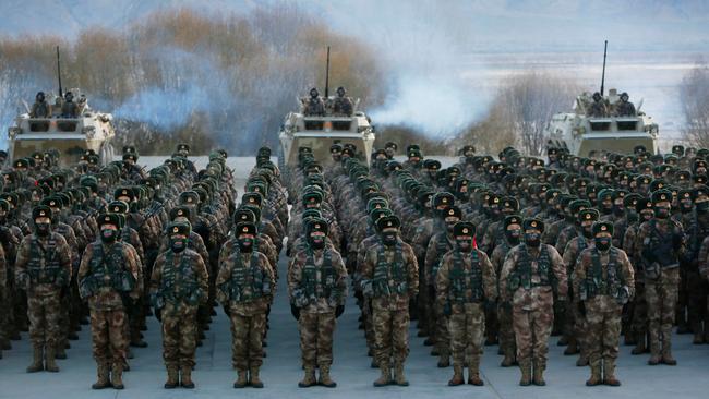
[[[541,243],[544,223],[526,219],[524,244],[515,246],[500,276],[500,292],[504,302],[512,302],[513,324],[517,341],[517,361],[521,370],[520,386],[546,385],[546,341],[554,324],[553,289],[558,301],[566,300],[567,281],[564,261],[556,250]],[[533,378],[532,374],[533,363]]]

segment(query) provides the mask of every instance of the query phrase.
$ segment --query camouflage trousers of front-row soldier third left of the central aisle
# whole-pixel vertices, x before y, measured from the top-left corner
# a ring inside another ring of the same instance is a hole
[[[122,309],[91,310],[92,353],[97,364],[125,364],[127,323]]]

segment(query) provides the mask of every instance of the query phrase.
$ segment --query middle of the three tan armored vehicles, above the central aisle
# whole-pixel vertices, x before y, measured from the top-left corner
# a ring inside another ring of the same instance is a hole
[[[332,162],[329,147],[335,144],[353,144],[358,155],[370,162],[374,144],[374,128],[369,117],[359,111],[359,100],[353,102],[351,113],[333,112],[334,98],[326,98],[324,112],[308,111],[308,98],[300,99],[301,110],[289,112],[280,128],[281,164],[298,165],[299,148],[310,147],[315,159],[327,165]]]

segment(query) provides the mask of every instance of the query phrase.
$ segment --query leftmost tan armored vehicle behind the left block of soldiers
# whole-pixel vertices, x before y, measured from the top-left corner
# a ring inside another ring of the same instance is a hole
[[[77,89],[72,93],[85,99]],[[101,165],[113,160],[111,140],[116,135],[110,113],[98,112],[86,102],[82,104],[76,118],[32,118],[29,112],[15,119],[15,124],[8,129],[10,160],[28,157],[35,152],[57,149],[60,164],[67,166],[79,161],[87,149],[93,149],[100,158]]]

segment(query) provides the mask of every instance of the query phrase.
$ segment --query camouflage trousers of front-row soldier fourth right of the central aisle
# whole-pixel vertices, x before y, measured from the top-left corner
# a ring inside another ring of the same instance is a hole
[[[554,326],[554,306],[551,293],[539,299],[532,310],[513,306],[513,326],[517,342],[517,360],[532,360],[546,364],[548,340]]]

